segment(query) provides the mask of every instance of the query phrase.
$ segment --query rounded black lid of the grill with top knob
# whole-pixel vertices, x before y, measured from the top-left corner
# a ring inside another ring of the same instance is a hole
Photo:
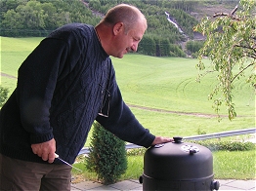
[[[144,174],[157,179],[192,179],[213,176],[211,151],[199,144],[173,142],[150,147],[144,156]]]

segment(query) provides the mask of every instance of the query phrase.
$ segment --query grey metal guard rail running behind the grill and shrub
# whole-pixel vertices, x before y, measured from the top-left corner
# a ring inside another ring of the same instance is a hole
[[[204,140],[204,139],[220,138],[220,137],[234,136],[234,135],[240,135],[240,134],[256,134],[256,128],[235,130],[235,131],[215,133],[215,134],[199,134],[199,135],[193,135],[193,136],[186,136],[186,137],[183,137],[183,139],[185,139],[185,140]],[[126,144],[125,148],[128,150],[128,149],[133,149],[133,148],[142,148],[142,146],[139,146],[139,145],[133,144],[133,143],[128,143],[128,144]],[[81,149],[81,151],[79,152],[78,155],[88,154],[88,153],[90,153],[89,148],[84,147]]]

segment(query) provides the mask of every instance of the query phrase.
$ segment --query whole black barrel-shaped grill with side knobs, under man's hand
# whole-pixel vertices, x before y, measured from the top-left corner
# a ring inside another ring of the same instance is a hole
[[[144,191],[212,191],[220,186],[213,176],[211,151],[174,137],[173,142],[154,145],[146,151],[140,182]]]

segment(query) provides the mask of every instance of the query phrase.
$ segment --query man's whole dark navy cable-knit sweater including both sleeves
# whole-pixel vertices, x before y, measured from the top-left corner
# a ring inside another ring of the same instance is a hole
[[[124,103],[94,27],[79,23],[54,31],[22,62],[0,120],[0,152],[38,163],[31,144],[55,138],[56,153],[72,164],[95,120],[138,145],[154,139]]]

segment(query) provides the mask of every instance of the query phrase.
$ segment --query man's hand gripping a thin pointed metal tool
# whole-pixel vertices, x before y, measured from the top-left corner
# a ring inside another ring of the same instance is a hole
[[[54,138],[47,142],[31,144],[31,148],[33,153],[41,157],[44,161],[48,161],[48,163],[54,162],[56,151],[56,141]]]

